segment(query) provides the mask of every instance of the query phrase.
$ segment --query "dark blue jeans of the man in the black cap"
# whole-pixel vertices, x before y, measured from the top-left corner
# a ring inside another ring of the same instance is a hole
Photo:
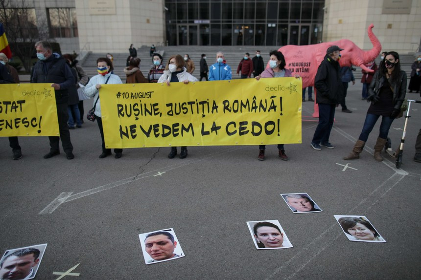
[[[313,140],[315,144],[324,144],[329,142],[330,130],[332,130],[333,120],[335,119],[334,104],[319,103],[319,124],[314,131]]]

